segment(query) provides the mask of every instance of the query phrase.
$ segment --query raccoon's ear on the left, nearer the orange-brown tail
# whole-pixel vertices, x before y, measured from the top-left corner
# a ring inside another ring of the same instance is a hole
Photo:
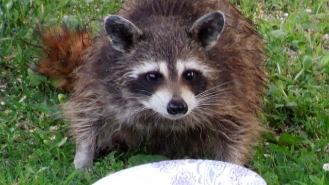
[[[104,23],[105,31],[116,50],[129,51],[141,38],[142,31],[123,17],[108,15]]]

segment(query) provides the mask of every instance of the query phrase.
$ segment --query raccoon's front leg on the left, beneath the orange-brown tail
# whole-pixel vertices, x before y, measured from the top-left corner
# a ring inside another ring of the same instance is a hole
[[[91,169],[96,149],[99,148],[97,138],[104,123],[100,114],[102,104],[92,96],[85,96],[89,95],[88,92],[78,95],[67,101],[63,109],[66,119],[70,121],[70,133],[76,141],[74,166],[77,169]]]

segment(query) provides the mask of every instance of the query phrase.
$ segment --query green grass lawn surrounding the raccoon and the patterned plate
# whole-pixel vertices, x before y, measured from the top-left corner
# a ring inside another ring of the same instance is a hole
[[[326,185],[329,172],[329,4],[326,0],[232,0],[268,43],[264,135],[250,167],[269,185]],[[40,58],[37,25],[75,26],[115,13],[115,0],[0,0],[0,184],[91,184],[130,167],[140,151],[112,152],[93,173],[75,170],[58,95],[28,71]],[[95,21],[91,21],[91,25]],[[97,21],[96,21],[97,22]],[[28,44],[30,43],[30,44]],[[143,154],[143,153],[142,153]],[[149,158],[152,160],[152,158]]]

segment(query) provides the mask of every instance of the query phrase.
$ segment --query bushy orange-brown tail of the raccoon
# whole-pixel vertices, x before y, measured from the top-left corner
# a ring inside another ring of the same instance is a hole
[[[74,69],[82,65],[86,49],[94,43],[90,32],[52,27],[41,30],[40,35],[47,47],[46,57],[36,63],[33,70],[58,80],[57,87],[71,91],[76,81]]]

